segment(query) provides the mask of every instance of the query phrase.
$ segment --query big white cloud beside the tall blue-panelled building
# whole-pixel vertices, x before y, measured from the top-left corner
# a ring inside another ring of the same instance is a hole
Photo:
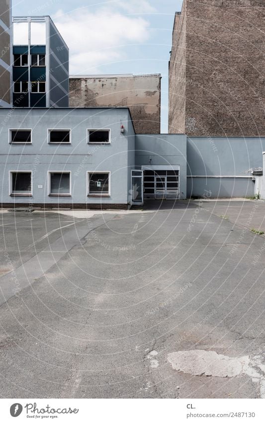
[[[144,3],[148,5],[147,1]],[[149,38],[146,19],[115,9],[101,7],[91,12],[82,8],[71,14],[62,10],[56,13],[55,24],[70,48],[70,73],[97,73],[98,66],[128,57],[126,44],[140,44]]]

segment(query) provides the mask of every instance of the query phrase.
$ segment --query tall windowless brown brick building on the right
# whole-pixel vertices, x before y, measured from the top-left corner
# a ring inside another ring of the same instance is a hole
[[[264,0],[184,0],[173,31],[170,133],[265,135],[264,15]]]

